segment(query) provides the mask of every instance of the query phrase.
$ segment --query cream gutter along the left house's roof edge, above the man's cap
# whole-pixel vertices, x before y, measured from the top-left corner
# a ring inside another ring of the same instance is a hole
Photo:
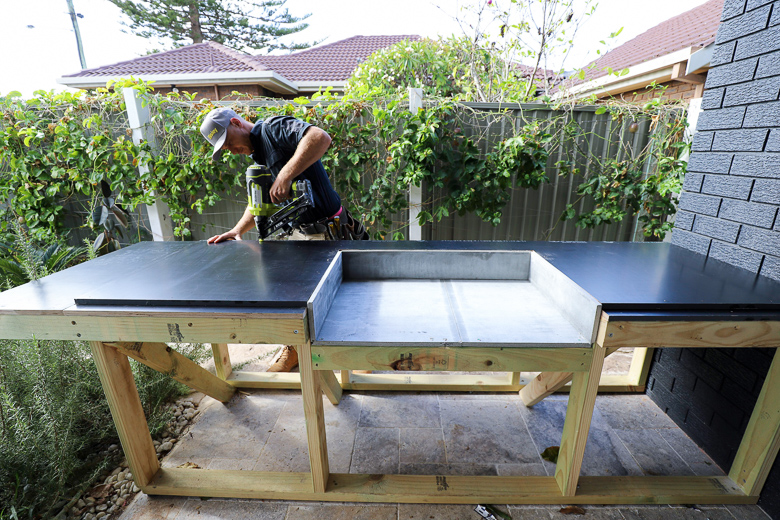
[[[105,87],[109,80],[118,80],[116,75],[81,76],[57,78],[57,83],[72,88]],[[298,85],[272,70],[249,72],[210,72],[191,74],[139,74],[132,77],[144,81],[153,81],[158,87],[211,86],[219,85],[260,85],[279,94],[297,94]]]

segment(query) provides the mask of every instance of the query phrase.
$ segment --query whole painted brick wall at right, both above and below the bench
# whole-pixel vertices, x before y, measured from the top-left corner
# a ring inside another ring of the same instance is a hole
[[[780,280],[780,0],[726,0],[672,244]],[[728,471],[774,349],[662,349],[647,394]],[[780,464],[759,505],[780,518]]]

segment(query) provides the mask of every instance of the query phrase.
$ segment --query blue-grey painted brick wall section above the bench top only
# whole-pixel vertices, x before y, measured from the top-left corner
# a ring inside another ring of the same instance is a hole
[[[780,1],[721,20],[672,243],[780,280]]]

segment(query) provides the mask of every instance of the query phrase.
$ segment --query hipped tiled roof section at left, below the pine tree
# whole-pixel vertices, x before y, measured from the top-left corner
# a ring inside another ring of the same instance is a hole
[[[252,57],[214,42],[195,43],[167,52],[149,54],[112,65],[86,69],[66,78],[142,74],[198,74],[267,70]]]

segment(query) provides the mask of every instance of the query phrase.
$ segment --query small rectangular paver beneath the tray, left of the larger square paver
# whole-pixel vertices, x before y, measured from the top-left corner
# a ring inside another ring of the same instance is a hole
[[[363,396],[360,427],[438,428],[439,400],[435,395],[375,393]]]

